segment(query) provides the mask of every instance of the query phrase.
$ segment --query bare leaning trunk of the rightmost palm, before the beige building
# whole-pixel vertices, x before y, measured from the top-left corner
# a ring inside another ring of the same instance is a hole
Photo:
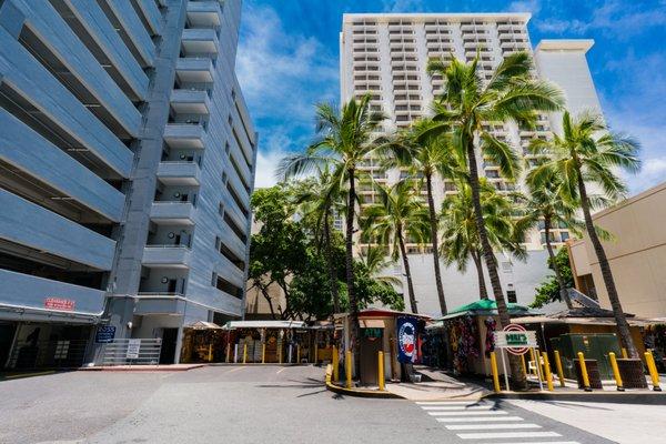
[[[579,168],[578,193],[581,194],[581,208],[583,209],[583,215],[585,216],[585,229],[587,231],[589,240],[592,241],[592,245],[594,246],[594,252],[597,256],[597,260],[599,261],[602,276],[604,278],[604,284],[606,285],[608,300],[610,301],[610,306],[613,307],[613,314],[617,324],[617,332],[619,333],[619,339],[624,346],[627,349],[628,355],[630,357],[637,359],[639,357],[638,352],[636,351],[634,340],[632,339],[629,323],[627,322],[627,317],[625,316],[624,310],[622,309],[622,304],[619,303],[619,296],[617,294],[617,289],[615,287],[615,280],[613,279],[613,273],[610,272],[610,264],[608,263],[608,258],[606,256],[606,251],[604,250],[604,246],[599,241],[599,236],[597,235],[596,230],[594,229],[594,222],[592,221],[592,214],[589,213],[587,190],[585,189],[585,182],[583,181],[583,176],[581,175]]]

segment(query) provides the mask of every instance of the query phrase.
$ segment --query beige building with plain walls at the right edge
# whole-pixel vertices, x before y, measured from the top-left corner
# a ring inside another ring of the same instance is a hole
[[[619,301],[626,313],[666,317],[666,182],[593,214],[613,239],[602,241]],[[588,236],[571,241],[569,261],[576,289],[610,310],[599,261]]]

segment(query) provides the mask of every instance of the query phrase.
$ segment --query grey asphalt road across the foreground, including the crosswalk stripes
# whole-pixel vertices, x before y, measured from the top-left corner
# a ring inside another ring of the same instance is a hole
[[[0,382],[1,443],[610,443],[507,402],[327,392],[322,369],[71,372]]]

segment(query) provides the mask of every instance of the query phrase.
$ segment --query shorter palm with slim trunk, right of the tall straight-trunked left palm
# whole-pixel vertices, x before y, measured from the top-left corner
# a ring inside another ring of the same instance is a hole
[[[364,209],[369,235],[389,245],[394,261],[402,258],[407,280],[407,294],[412,313],[418,313],[412,272],[407,259],[406,239],[422,243],[426,238],[430,223],[427,212],[423,208],[421,196],[414,190],[414,184],[402,180],[391,188],[376,184],[380,202]]]

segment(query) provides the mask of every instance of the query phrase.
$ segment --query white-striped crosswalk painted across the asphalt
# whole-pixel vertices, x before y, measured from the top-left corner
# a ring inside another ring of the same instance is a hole
[[[509,415],[500,404],[486,401],[423,401],[416,403],[425,413],[457,437],[466,442],[485,444],[579,444],[576,441],[552,441],[561,437],[557,432],[543,425],[525,422],[521,416]],[[457,433],[460,432],[460,433]],[[538,441],[526,442],[535,438]]]

